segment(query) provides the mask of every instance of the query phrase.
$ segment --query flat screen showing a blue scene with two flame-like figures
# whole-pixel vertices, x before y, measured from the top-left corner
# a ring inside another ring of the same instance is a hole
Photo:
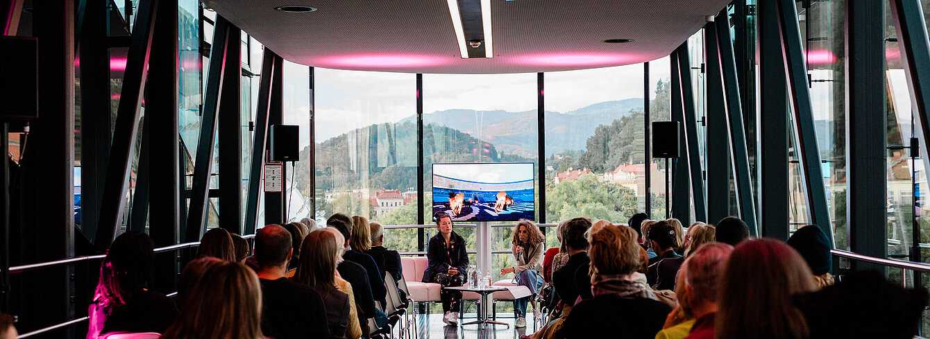
[[[453,221],[533,220],[534,163],[433,163],[432,213]]]

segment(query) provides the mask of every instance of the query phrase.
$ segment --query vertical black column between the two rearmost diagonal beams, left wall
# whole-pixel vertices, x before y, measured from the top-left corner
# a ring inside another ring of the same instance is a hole
[[[226,33],[223,95],[219,98],[219,227],[242,234],[242,32]]]

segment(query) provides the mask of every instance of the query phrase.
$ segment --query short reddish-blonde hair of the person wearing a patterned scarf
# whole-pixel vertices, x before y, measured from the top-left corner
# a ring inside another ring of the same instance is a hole
[[[602,220],[603,221],[603,220]],[[591,278],[595,274],[631,274],[640,266],[640,246],[636,243],[636,230],[618,227],[609,222],[595,224],[591,227],[588,241],[591,249]]]

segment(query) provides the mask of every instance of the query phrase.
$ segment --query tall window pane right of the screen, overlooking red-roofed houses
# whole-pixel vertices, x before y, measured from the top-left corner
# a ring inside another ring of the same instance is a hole
[[[645,209],[643,67],[546,73],[547,220]]]

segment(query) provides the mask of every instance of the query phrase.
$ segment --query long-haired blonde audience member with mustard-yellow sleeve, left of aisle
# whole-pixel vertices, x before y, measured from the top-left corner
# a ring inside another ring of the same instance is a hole
[[[336,266],[342,260],[343,244],[339,231],[320,228],[310,232],[303,241],[304,256],[300,258],[294,281],[310,286],[323,298],[326,307],[326,324],[334,337],[357,338],[362,330],[352,296],[352,285],[345,292],[339,291]],[[342,280],[345,281],[345,280]]]

